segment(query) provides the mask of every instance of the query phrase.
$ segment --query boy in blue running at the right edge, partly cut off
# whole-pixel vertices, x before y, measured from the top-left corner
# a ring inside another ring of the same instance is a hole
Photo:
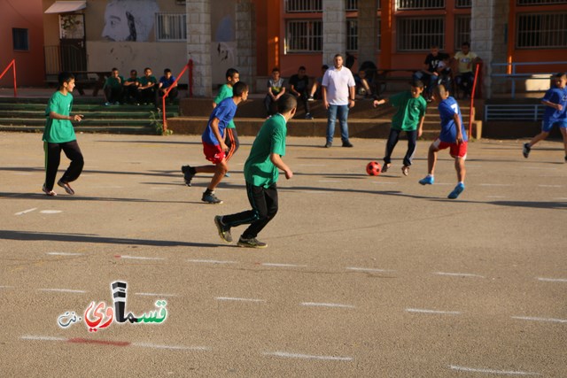
[[[530,151],[535,143],[546,139],[551,129],[557,125],[563,136],[565,146],[565,163],[567,163],[567,74],[556,73],[553,77],[553,86],[548,89],[541,99],[541,104],[546,105],[546,112],[543,115],[541,133],[535,135],[530,143],[524,144],[524,158],[530,155]]]

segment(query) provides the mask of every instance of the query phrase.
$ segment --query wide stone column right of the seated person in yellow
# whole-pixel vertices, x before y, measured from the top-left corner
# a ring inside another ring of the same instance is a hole
[[[483,94],[490,98],[493,83],[491,63],[507,61],[506,25],[509,2],[502,0],[475,0],[470,10],[470,50],[483,60]],[[509,30],[508,33],[515,33]]]

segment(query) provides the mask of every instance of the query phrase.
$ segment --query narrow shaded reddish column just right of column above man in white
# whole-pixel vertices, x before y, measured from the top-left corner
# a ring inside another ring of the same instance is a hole
[[[358,66],[370,60],[376,63],[377,7],[376,0],[358,0]]]

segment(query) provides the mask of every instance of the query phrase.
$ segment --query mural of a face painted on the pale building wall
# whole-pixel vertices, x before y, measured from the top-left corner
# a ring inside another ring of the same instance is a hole
[[[103,38],[146,42],[159,12],[156,0],[108,0]]]

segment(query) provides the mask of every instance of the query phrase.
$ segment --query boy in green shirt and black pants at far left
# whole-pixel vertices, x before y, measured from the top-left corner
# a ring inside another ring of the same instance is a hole
[[[47,196],[57,196],[53,191],[55,176],[57,175],[61,150],[65,152],[71,164],[65,174],[57,182],[58,186],[65,189],[67,194],[74,195],[74,189],[69,182],[75,181],[82,173],[84,160],[81,149],[74,135],[72,120],[81,122],[82,114],[71,116],[73,106],[74,75],[72,73],[59,73],[58,90],[51,96],[49,104],[45,109],[48,117],[43,130],[43,150],[45,151],[45,182],[43,193]]]

